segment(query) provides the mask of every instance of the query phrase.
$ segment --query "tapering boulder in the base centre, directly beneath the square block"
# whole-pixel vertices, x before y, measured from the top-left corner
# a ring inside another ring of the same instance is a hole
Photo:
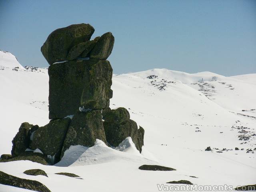
[[[100,110],[78,112],[72,118],[63,144],[62,156],[71,145],[94,146],[96,139],[106,143]]]

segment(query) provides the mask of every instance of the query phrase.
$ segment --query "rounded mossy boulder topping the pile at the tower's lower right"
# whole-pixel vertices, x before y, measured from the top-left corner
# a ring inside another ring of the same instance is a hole
[[[126,108],[119,107],[117,109],[112,109],[108,112],[104,112],[103,119],[106,122],[122,123],[130,119],[130,114]]]

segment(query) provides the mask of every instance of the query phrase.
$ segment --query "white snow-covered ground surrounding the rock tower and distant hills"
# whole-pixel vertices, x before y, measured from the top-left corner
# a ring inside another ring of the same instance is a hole
[[[158,191],[157,184],[174,185],[166,184],[173,180],[204,186],[256,184],[256,151],[247,151],[256,148],[256,74],[225,77],[153,69],[114,75],[112,81],[110,108],[127,108],[144,128],[142,154],[130,138],[117,149],[97,140],[91,148],[70,147],[56,166],[16,161],[0,163],[0,170],[38,180],[52,192],[149,192]],[[47,69],[23,68],[15,56],[0,51],[0,90],[0,154],[10,154],[22,122],[49,122]],[[219,150],[205,151],[207,146]],[[142,164],[176,171],[139,170]],[[44,170],[48,178],[23,174],[33,168]],[[0,192],[5,191],[29,190],[0,184]]]

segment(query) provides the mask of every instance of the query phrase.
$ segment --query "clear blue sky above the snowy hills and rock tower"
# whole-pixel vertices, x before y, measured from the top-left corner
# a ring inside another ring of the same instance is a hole
[[[115,36],[114,73],[168,68],[225,76],[256,73],[256,0],[0,0],[0,49],[47,67],[47,36],[90,23]]]

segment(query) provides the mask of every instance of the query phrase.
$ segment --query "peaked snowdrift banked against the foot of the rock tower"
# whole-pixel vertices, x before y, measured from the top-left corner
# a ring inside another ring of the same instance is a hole
[[[128,137],[116,149],[106,146],[99,139],[96,139],[94,146],[90,148],[81,145],[70,146],[55,166],[83,166],[113,161],[156,163],[144,158],[136,149],[132,138]]]

